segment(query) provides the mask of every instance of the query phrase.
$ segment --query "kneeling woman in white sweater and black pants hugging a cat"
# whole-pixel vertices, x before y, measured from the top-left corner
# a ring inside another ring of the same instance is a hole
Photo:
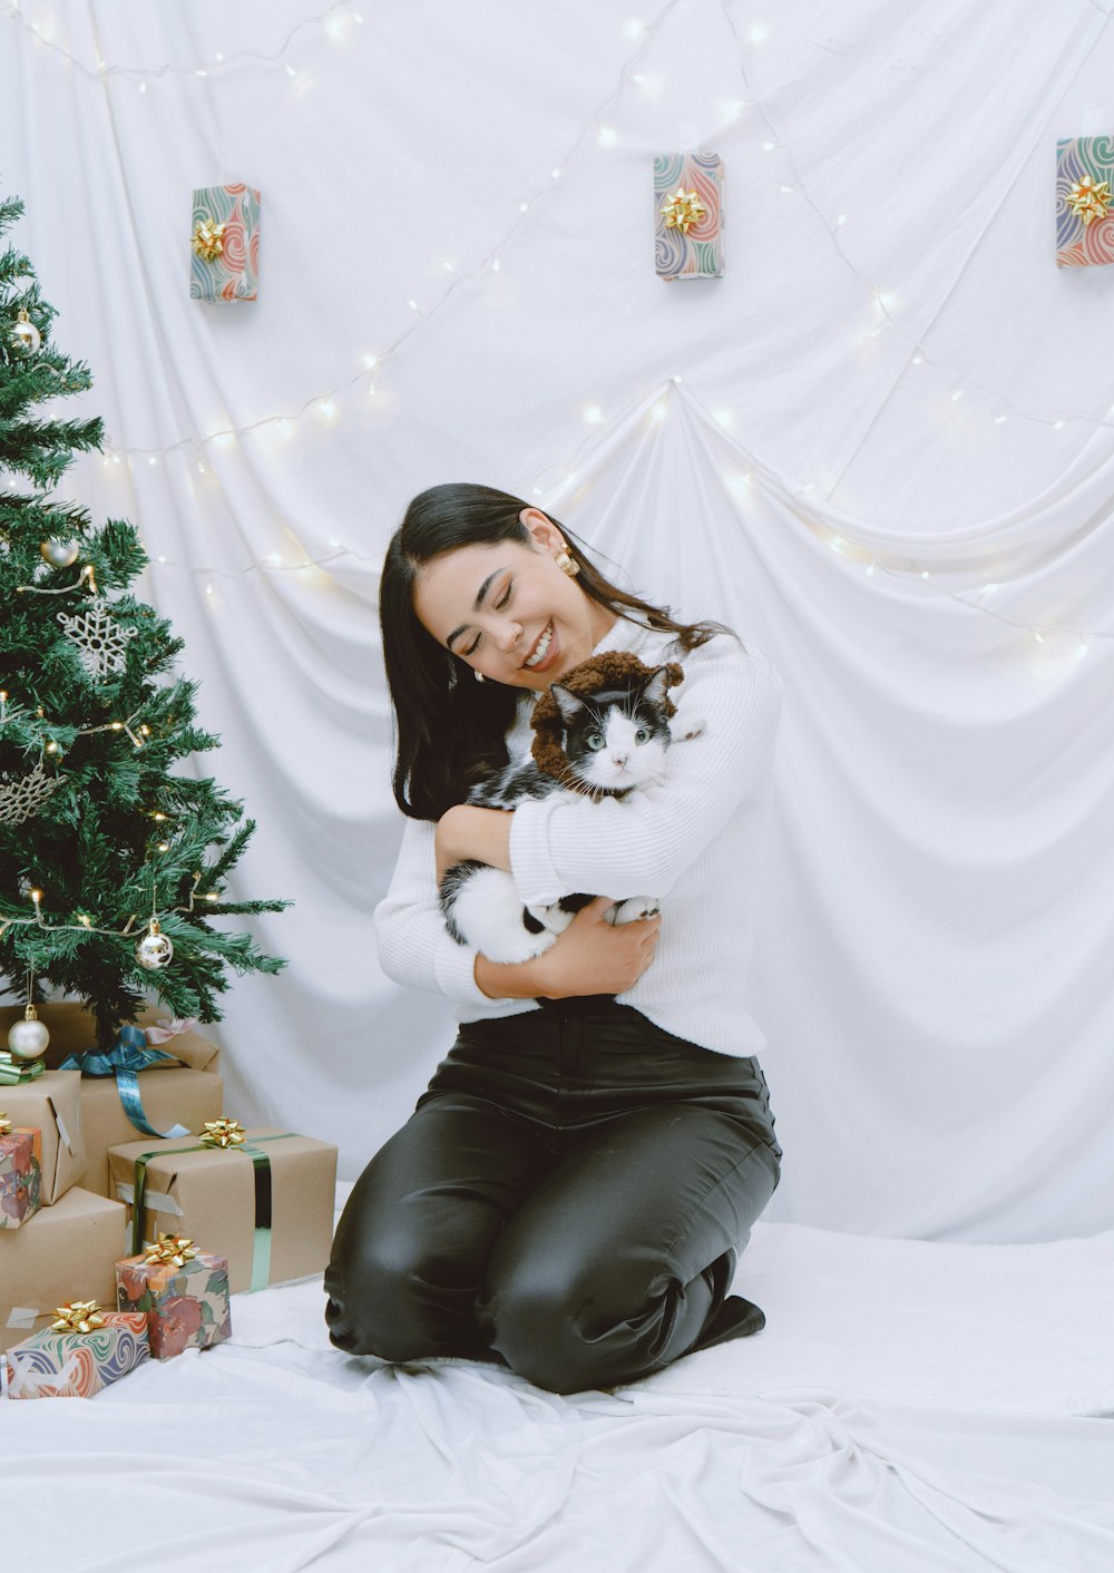
[[[458,1354],[552,1392],[615,1386],[763,1326],[727,1290],[782,1148],[744,1008],[782,681],[714,623],[604,579],[570,530],[486,486],[415,497],[379,612],[403,848],[374,914],[384,971],[439,989],[459,1032],[345,1208],[332,1342]],[[620,802],[463,802],[477,760],[530,744],[533,697],[592,653],[677,659],[666,780]],[[686,727],[688,722],[688,727]],[[511,873],[524,904],[593,892],[533,961],[442,920],[444,870]],[[612,926],[633,893],[661,915]]]

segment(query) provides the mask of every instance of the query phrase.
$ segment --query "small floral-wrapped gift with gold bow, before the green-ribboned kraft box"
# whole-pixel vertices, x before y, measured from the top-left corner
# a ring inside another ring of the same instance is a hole
[[[157,1361],[220,1343],[231,1332],[228,1258],[181,1235],[159,1235],[143,1255],[116,1263],[116,1306],[146,1313]]]

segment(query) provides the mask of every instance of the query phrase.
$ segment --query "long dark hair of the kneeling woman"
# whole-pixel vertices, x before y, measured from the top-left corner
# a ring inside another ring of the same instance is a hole
[[[395,706],[395,799],[412,820],[439,820],[463,802],[478,763],[485,768],[507,763],[505,733],[521,698],[521,691],[505,683],[475,683],[472,669],[422,628],[414,612],[415,580],[434,557],[459,546],[497,541],[533,546],[519,519],[529,507],[491,486],[430,486],[411,502],[390,538],[379,579],[379,623]],[[628,623],[675,634],[680,651],[695,650],[714,634],[732,634],[722,623],[675,623],[669,607],[650,606],[620,590],[604,579],[566,525],[551,513],[546,518],[562,532],[581,568],[576,582],[599,606]]]

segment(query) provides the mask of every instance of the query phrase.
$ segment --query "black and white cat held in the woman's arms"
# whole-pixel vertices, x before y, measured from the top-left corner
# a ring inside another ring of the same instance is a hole
[[[477,783],[467,802],[480,809],[515,809],[530,798],[628,798],[666,775],[672,733],[666,709],[667,667],[647,676],[610,683],[585,697],[559,683],[549,686],[562,717],[566,785],[544,774],[532,758],[511,761]],[[474,945],[489,961],[529,961],[568,928],[592,895],[566,895],[554,906],[524,906],[515,881],[502,868],[474,860],[453,864],[441,882],[445,926],[461,945]],[[631,923],[658,911],[653,897],[629,897],[607,911],[609,923]]]

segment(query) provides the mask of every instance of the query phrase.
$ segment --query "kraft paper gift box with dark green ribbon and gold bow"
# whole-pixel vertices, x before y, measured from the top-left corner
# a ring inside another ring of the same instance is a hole
[[[129,1142],[113,1147],[109,1166],[113,1194],[129,1206],[131,1255],[159,1233],[203,1240],[228,1257],[233,1295],[321,1273],[329,1262],[337,1184],[329,1142],[274,1128],[247,1131],[242,1147],[227,1148]]]

